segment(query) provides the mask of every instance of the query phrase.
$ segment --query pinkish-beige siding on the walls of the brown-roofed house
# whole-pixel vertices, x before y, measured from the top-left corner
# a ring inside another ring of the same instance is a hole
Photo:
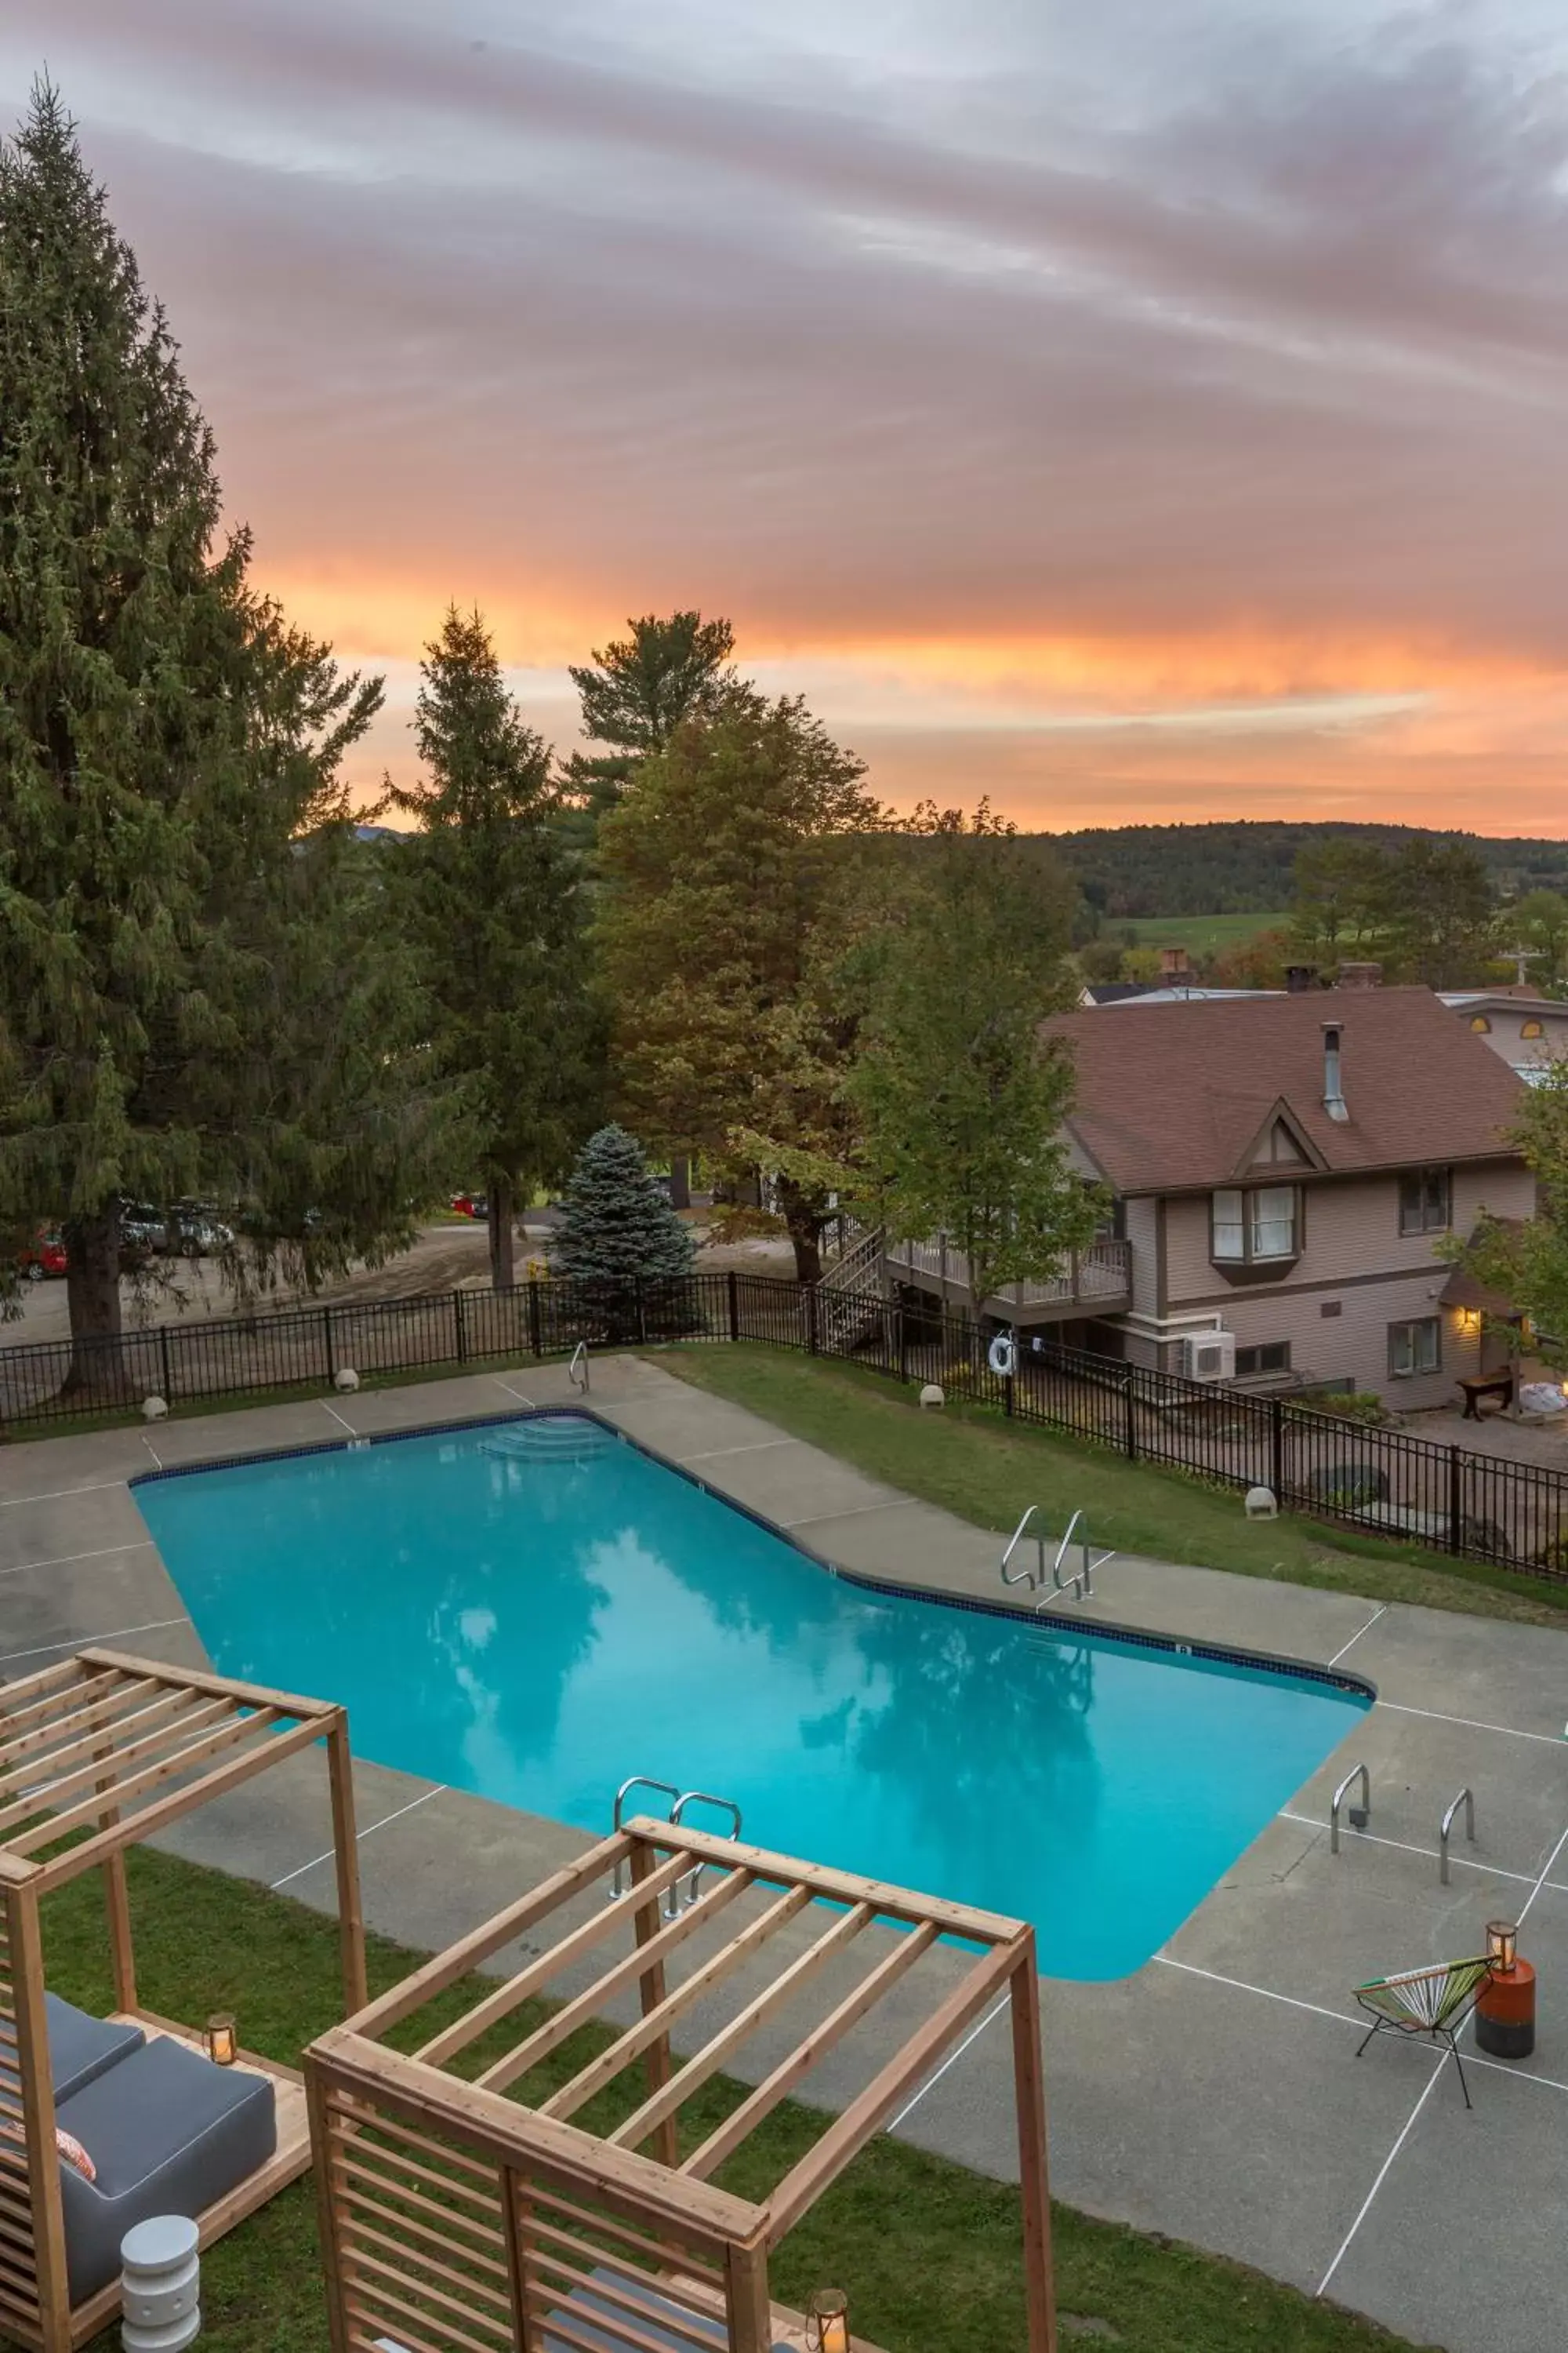
[[[1453,1219],[1469,1233],[1481,1207],[1497,1217],[1528,1217],[1533,1179],[1519,1162],[1460,1169],[1453,1179]],[[1284,1282],[1227,1285],[1208,1259],[1208,1198],[1166,1202],[1168,1313],[1208,1308],[1244,1348],[1291,1341],[1298,1372],[1349,1377],[1392,1405],[1425,1407],[1453,1398],[1460,1372],[1479,1369],[1479,1339],[1460,1318],[1439,1308],[1448,1266],[1436,1257],[1439,1235],[1401,1235],[1394,1176],[1307,1186],[1305,1247]],[[1324,1315],[1324,1306],[1340,1308]],[[1436,1374],[1392,1379],[1389,1325],[1443,1315],[1443,1355]],[[1495,1353],[1495,1346],[1490,1353]],[[1488,1358],[1490,1360],[1490,1358]]]

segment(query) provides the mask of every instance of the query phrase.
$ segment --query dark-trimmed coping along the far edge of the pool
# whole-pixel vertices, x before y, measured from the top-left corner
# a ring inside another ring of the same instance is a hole
[[[127,1480],[127,1487],[134,1494],[139,1487],[153,1487],[160,1480],[197,1478],[207,1471],[240,1471],[252,1464],[289,1461],[308,1454],[362,1454],[369,1447],[402,1445],[411,1438],[442,1438],[456,1431],[505,1428],[520,1421],[588,1421],[592,1424],[592,1428],[604,1431],[607,1438],[614,1438],[623,1447],[632,1447],[646,1461],[658,1464],[661,1471],[675,1473],[675,1478],[686,1480],[689,1487],[696,1487],[701,1494],[712,1497],[715,1504],[724,1504],[743,1520],[750,1520],[755,1527],[762,1527],[769,1537],[776,1537],[780,1544],[788,1544],[792,1553],[799,1553],[799,1558],[809,1560],[816,1569],[823,1569],[839,1584],[858,1586],[865,1593],[886,1595],[889,1600],[924,1602],[926,1607],[938,1607],[938,1609],[966,1609],[976,1617],[1009,1619],[1016,1626],[1048,1626],[1053,1633],[1077,1635],[1077,1640],[1081,1642],[1093,1642],[1093,1640],[1121,1642],[1131,1649],[1166,1652],[1173,1659],[1206,1659],[1215,1666],[1253,1668],[1272,1675],[1286,1675],[1295,1682],[1321,1682],[1333,1692],[1342,1692],[1354,1699],[1366,1699],[1368,1706],[1375,1706],[1378,1701],[1378,1685],[1371,1682],[1371,1678],[1356,1675],[1345,1668],[1324,1666],[1316,1659],[1295,1659],[1286,1652],[1248,1649],[1241,1642],[1204,1642],[1204,1640],[1187,1642],[1180,1635],[1161,1633],[1150,1626],[1128,1626],[1119,1619],[1086,1621],[1070,1617],[1065,1609],[1025,1609],[1020,1602],[980,1600],[978,1595],[971,1593],[940,1593],[931,1586],[910,1586],[893,1577],[872,1577],[865,1569],[844,1569],[825,1553],[818,1553],[811,1544],[804,1544],[788,1527],[780,1527],[778,1520],[769,1520],[764,1511],[755,1511],[750,1504],[738,1501],[722,1487],[710,1485],[710,1480],[686,1468],[686,1464],[679,1464],[672,1457],[661,1454],[658,1447],[646,1445],[642,1438],[632,1438],[630,1431],[623,1431],[616,1421],[609,1421],[604,1414],[597,1414],[592,1405],[531,1405],[531,1407],[505,1409],[498,1414],[461,1414],[447,1421],[425,1421],[418,1424],[418,1428],[409,1431],[369,1431],[369,1433],[353,1433],[348,1438],[308,1440],[306,1445],[292,1445],[292,1447],[259,1447],[249,1454],[216,1454],[197,1464],[160,1464],[155,1471],[139,1471],[134,1478]]]

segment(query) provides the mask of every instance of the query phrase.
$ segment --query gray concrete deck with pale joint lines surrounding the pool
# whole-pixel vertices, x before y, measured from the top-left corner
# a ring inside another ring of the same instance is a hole
[[[139,1471],[564,1402],[578,1400],[555,1365],[5,1447],[0,1678],[82,1642],[205,1664],[127,1487]],[[994,1534],[654,1362],[597,1360],[588,1402],[839,1567],[1001,1598]],[[1117,1984],[1044,1981],[1053,2191],[1326,2292],[1418,2344],[1559,2353],[1568,1633],[1131,1558],[1112,1560],[1074,1614],[1340,1664],[1375,1685],[1378,1704],[1147,1967]],[[1328,1798],[1361,1760],[1371,1826],[1347,1828],[1333,1857]],[[607,1809],[621,1772],[646,1762],[607,1767]],[[1436,1831],[1462,1786],[1479,1835],[1469,1847],[1455,1824],[1443,1887]],[[367,1918],[416,1946],[447,1944],[585,1845],[371,1762],[357,1765],[357,1805]],[[205,1809],[179,1852],[329,1911],[329,1842],[324,1777],[301,1769]],[[1467,2045],[1474,2113],[1453,2066],[1425,2047],[1380,2038],[1356,2061],[1349,1988],[1481,1951],[1495,1915],[1523,1922],[1540,1969],[1535,2057],[1488,2061]],[[703,2028],[701,2009],[691,2024]],[[809,2092],[832,2104],[832,2071]],[[983,2024],[898,2132],[1011,2177],[1006,2028]]]

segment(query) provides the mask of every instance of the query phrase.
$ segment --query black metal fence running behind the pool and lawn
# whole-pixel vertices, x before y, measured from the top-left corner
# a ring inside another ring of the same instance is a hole
[[[557,1278],[508,1292],[148,1325],[106,1341],[33,1341],[0,1348],[0,1428],[94,1419],[150,1393],[181,1405],[322,1388],[343,1367],[421,1372],[562,1355],[581,1339],[590,1348],[764,1341],[844,1358],[891,1379],[940,1381],[952,1395],[1114,1447],[1128,1461],[1222,1487],[1269,1487],[1284,1508],[1366,1534],[1568,1579],[1568,1473],[1053,1344],[1025,1348],[1013,1372],[997,1372],[992,1334],[969,1315],[771,1275]]]

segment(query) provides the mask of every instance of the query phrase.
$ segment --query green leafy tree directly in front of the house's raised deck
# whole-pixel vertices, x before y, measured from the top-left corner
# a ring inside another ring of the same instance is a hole
[[[917,835],[849,1094],[886,1224],[922,1242],[947,1233],[980,1306],[1088,1245],[1103,1209],[1063,1144],[1072,1064],[1041,1040],[1072,1000],[1072,894],[1048,849],[985,805],[969,826],[924,807]]]

